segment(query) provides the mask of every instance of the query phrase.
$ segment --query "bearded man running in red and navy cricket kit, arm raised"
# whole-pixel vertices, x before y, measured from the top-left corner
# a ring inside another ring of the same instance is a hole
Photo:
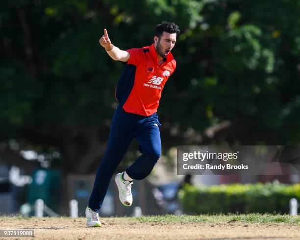
[[[108,184],[134,138],[139,143],[142,155],[124,172],[115,176],[119,198],[124,206],[132,204],[132,181],[147,177],[160,157],[161,124],[156,111],[162,89],[176,68],[171,50],[179,32],[176,24],[162,22],[155,27],[154,43],[150,47],[124,51],[111,43],[104,29],[100,45],[113,60],[127,64],[116,88],[119,105],[112,119],[107,148],[85,211],[88,227],[101,226],[98,212]]]

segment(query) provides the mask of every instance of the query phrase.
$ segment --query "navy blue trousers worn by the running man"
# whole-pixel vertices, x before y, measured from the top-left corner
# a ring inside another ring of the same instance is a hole
[[[97,170],[89,207],[98,212],[102,206],[110,179],[135,138],[142,153],[128,168],[129,177],[142,180],[147,177],[161,153],[158,116],[154,113],[144,117],[126,113],[122,106],[115,110],[110,126],[109,138],[102,162]]]

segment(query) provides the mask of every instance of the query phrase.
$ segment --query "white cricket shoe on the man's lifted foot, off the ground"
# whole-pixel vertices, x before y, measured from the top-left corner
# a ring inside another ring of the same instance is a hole
[[[124,172],[120,172],[115,176],[115,182],[119,190],[120,201],[124,206],[129,207],[132,204],[131,185],[133,182],[125,181],[122,178],[123,173]]]

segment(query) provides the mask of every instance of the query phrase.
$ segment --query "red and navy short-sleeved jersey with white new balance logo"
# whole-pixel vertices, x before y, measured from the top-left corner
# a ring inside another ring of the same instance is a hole
[[[166,61],[159,64],[153,44],[126,51],[130,58],[119,79],[116,99],[125,112],[150,116],[156,113],[161,92],[175,71],[175,59],[170,52]]]

